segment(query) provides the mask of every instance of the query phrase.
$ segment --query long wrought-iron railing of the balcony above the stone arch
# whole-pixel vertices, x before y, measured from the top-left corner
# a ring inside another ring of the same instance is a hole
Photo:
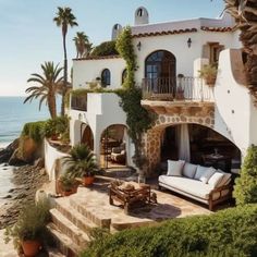
[[[212,89],[199,77],[143,78],[143,98],[148,100],[212,101]]]

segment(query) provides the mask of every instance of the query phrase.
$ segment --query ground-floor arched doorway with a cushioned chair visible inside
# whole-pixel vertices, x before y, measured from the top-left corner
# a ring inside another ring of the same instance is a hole
[[[100,138],[100,166],[109,169],[126,166],[127,133],[123,124],[108,126]]]

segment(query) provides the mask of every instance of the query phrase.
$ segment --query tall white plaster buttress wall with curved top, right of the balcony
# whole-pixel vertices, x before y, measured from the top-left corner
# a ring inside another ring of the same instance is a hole
[[[231,138],[243,156],[250,144],[257,143],[257,109],[244,82],[241,51],[222,51],[215,87],[215,130]]]

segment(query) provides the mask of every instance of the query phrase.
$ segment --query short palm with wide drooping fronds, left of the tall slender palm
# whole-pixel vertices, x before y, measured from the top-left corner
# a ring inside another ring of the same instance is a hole
[[[30,95],[26,97],[24,103],[39,98],[39,110],[45,101],[51,118],[54,119],[57,117],[56,95],[63,86],[63,76],[60,76],[63,68],[59,68],[59,64],[54,65],[53,62],[45,62],[45,64],[41,64],[41,70],[42,75],[33,73],[32,77],[27,79],[28,83],[34,82],[39,86],[32,86],[25,90]]]

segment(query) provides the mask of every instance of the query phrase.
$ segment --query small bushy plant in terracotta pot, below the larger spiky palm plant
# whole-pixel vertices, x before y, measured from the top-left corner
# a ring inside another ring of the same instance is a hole
[[[62,196],[70,196],[77,191],[77,181],[68,173],[61,175],[59,179],[59,188]]]

